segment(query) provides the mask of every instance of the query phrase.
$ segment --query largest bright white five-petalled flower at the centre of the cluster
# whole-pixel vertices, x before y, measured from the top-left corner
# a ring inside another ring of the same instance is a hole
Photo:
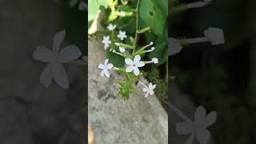
[[[136,56],[134,57],[134,61],[131,60],[130,58],[126,58],[126,59],[125,59],[126,64],[127,64],[127,65],[130,65],[130,66],[127,66],[127,67],[126,67],[126,72],[129,73],[129,72],[134,71],[134,74],[135,74],[136,76],[138,76],[138,74],[139,74],[138,67],[145,66],[145,63],[142,62],[142,61],[140,61],[140,60],[141,60],[141,56],[139,56],[139,55],[136,55]]]

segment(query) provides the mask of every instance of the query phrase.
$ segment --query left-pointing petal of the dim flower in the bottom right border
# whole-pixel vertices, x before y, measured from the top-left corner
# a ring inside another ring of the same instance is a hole
[[[178,122],[176,124],[177,134],[191,134],[194,130],[194,122]]]

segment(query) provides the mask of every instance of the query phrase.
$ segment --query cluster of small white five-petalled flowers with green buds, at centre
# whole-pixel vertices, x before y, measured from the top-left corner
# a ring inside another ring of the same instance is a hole
[[[126,67],[116,67],[112,63],[109,63],[109,59],[106,59],[104,64],[99,64],[98,68],[101,69],[101,76],[106,76],[110,78],[110,70],[118,70],[126,78],[126,82],[118,82],[121,86],[119,89],[119,95],[122,98],[129,98],[129,95],[134,92],[132,83],[140,82],[143,86],[143,92],[146,93],[145,97],[149,94],[154,94],[154,89],[156,85],[150,83],[146,86],[143,82],[139,80],[142,75],[141,68],[146,64],[158,63],[158,58],[151,58],[150,61],[142,61],[142,55],[154,51],[154,43],[146,46],[136,46],[135,44],[125,44],[124,41],[127,38],[126,31],[116,30],[117,26],[110,24],[107,26],[107,30],[110,35],[104,35],[102,38],[102,44],[104,45],[104,50],[109,50],[114,54],[118,54],[124,58],[124,63]],[[149,49],[150,47],[150,49]]]

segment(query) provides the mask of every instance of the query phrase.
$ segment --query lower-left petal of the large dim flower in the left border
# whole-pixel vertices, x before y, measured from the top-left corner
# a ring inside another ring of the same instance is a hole
[[[43,86],[49,87],[53,78],[54,74],[51,68],[51,64],[47,64],[42,71],[42,74],[40,75],[39,82],[42,83]]]

